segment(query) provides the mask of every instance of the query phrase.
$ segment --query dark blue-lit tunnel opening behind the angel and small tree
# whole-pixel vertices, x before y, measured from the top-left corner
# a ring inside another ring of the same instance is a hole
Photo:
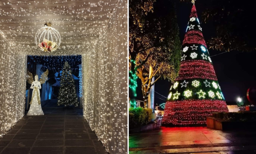
[[[76,94],[78,102],[80,102],[79,92],[79,65],[81,65],[81,55],[64,55],[64,56],[27,56],[27,69],[33,74],[33,77],[37,74],[40,78],[41,74],[47,69],[48,80],[45,84],[41,85],[40,98],[42,108],[55,108],[64,107],[57,106],[58,93],[60,88],[60,78],[62,68],[65,62],[68,62],[71,66],[73,79],[75,81]],[[26,84],[26,107],[25,110],[29,110],[29,102],[32,97],[32,89],[30,84]],[[78,105],[79,107],[79,105]]]

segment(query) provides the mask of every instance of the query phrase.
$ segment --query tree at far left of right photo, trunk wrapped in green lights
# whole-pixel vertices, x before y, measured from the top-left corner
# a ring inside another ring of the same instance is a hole
[[[137,69],[143,66],[147,60],[144,59],[141,65],[136,67],[136,55],[143,51],[142,48],[139,49],[137,46],[142,40],[142,35],[144,35],[142,34],[142,29],[144,28],[145,17],[148,12],[153,11],[155,1],[156,0],[129,0],[129,97],[131,107],[136,107]],[[152,48],[153,42],[147,42],[147,44],[148,47],[144,46],[144,49]]]

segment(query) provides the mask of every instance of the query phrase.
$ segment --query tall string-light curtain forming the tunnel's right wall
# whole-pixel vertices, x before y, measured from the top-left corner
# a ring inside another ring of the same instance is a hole
[[[127,1],[119,0],[83,65],[84,116],[110,154],[127,153]],[[85,66],[89,66],[86,67]],[[94,80],[92,80],[94,79]]]

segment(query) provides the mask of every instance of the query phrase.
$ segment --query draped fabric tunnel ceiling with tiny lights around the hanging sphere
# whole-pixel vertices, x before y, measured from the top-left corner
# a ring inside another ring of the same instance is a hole
[[[96,40],[118,0],[0,0],[0,30],[15,44],[35,45],[36,31],[49,22],[61,45]]]

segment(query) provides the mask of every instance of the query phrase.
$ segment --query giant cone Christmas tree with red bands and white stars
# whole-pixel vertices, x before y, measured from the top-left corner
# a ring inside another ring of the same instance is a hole
[[[163,124],[202,125],[213,112],[227,112],[193,5],[182,44],[181,69],[170,88]]]

